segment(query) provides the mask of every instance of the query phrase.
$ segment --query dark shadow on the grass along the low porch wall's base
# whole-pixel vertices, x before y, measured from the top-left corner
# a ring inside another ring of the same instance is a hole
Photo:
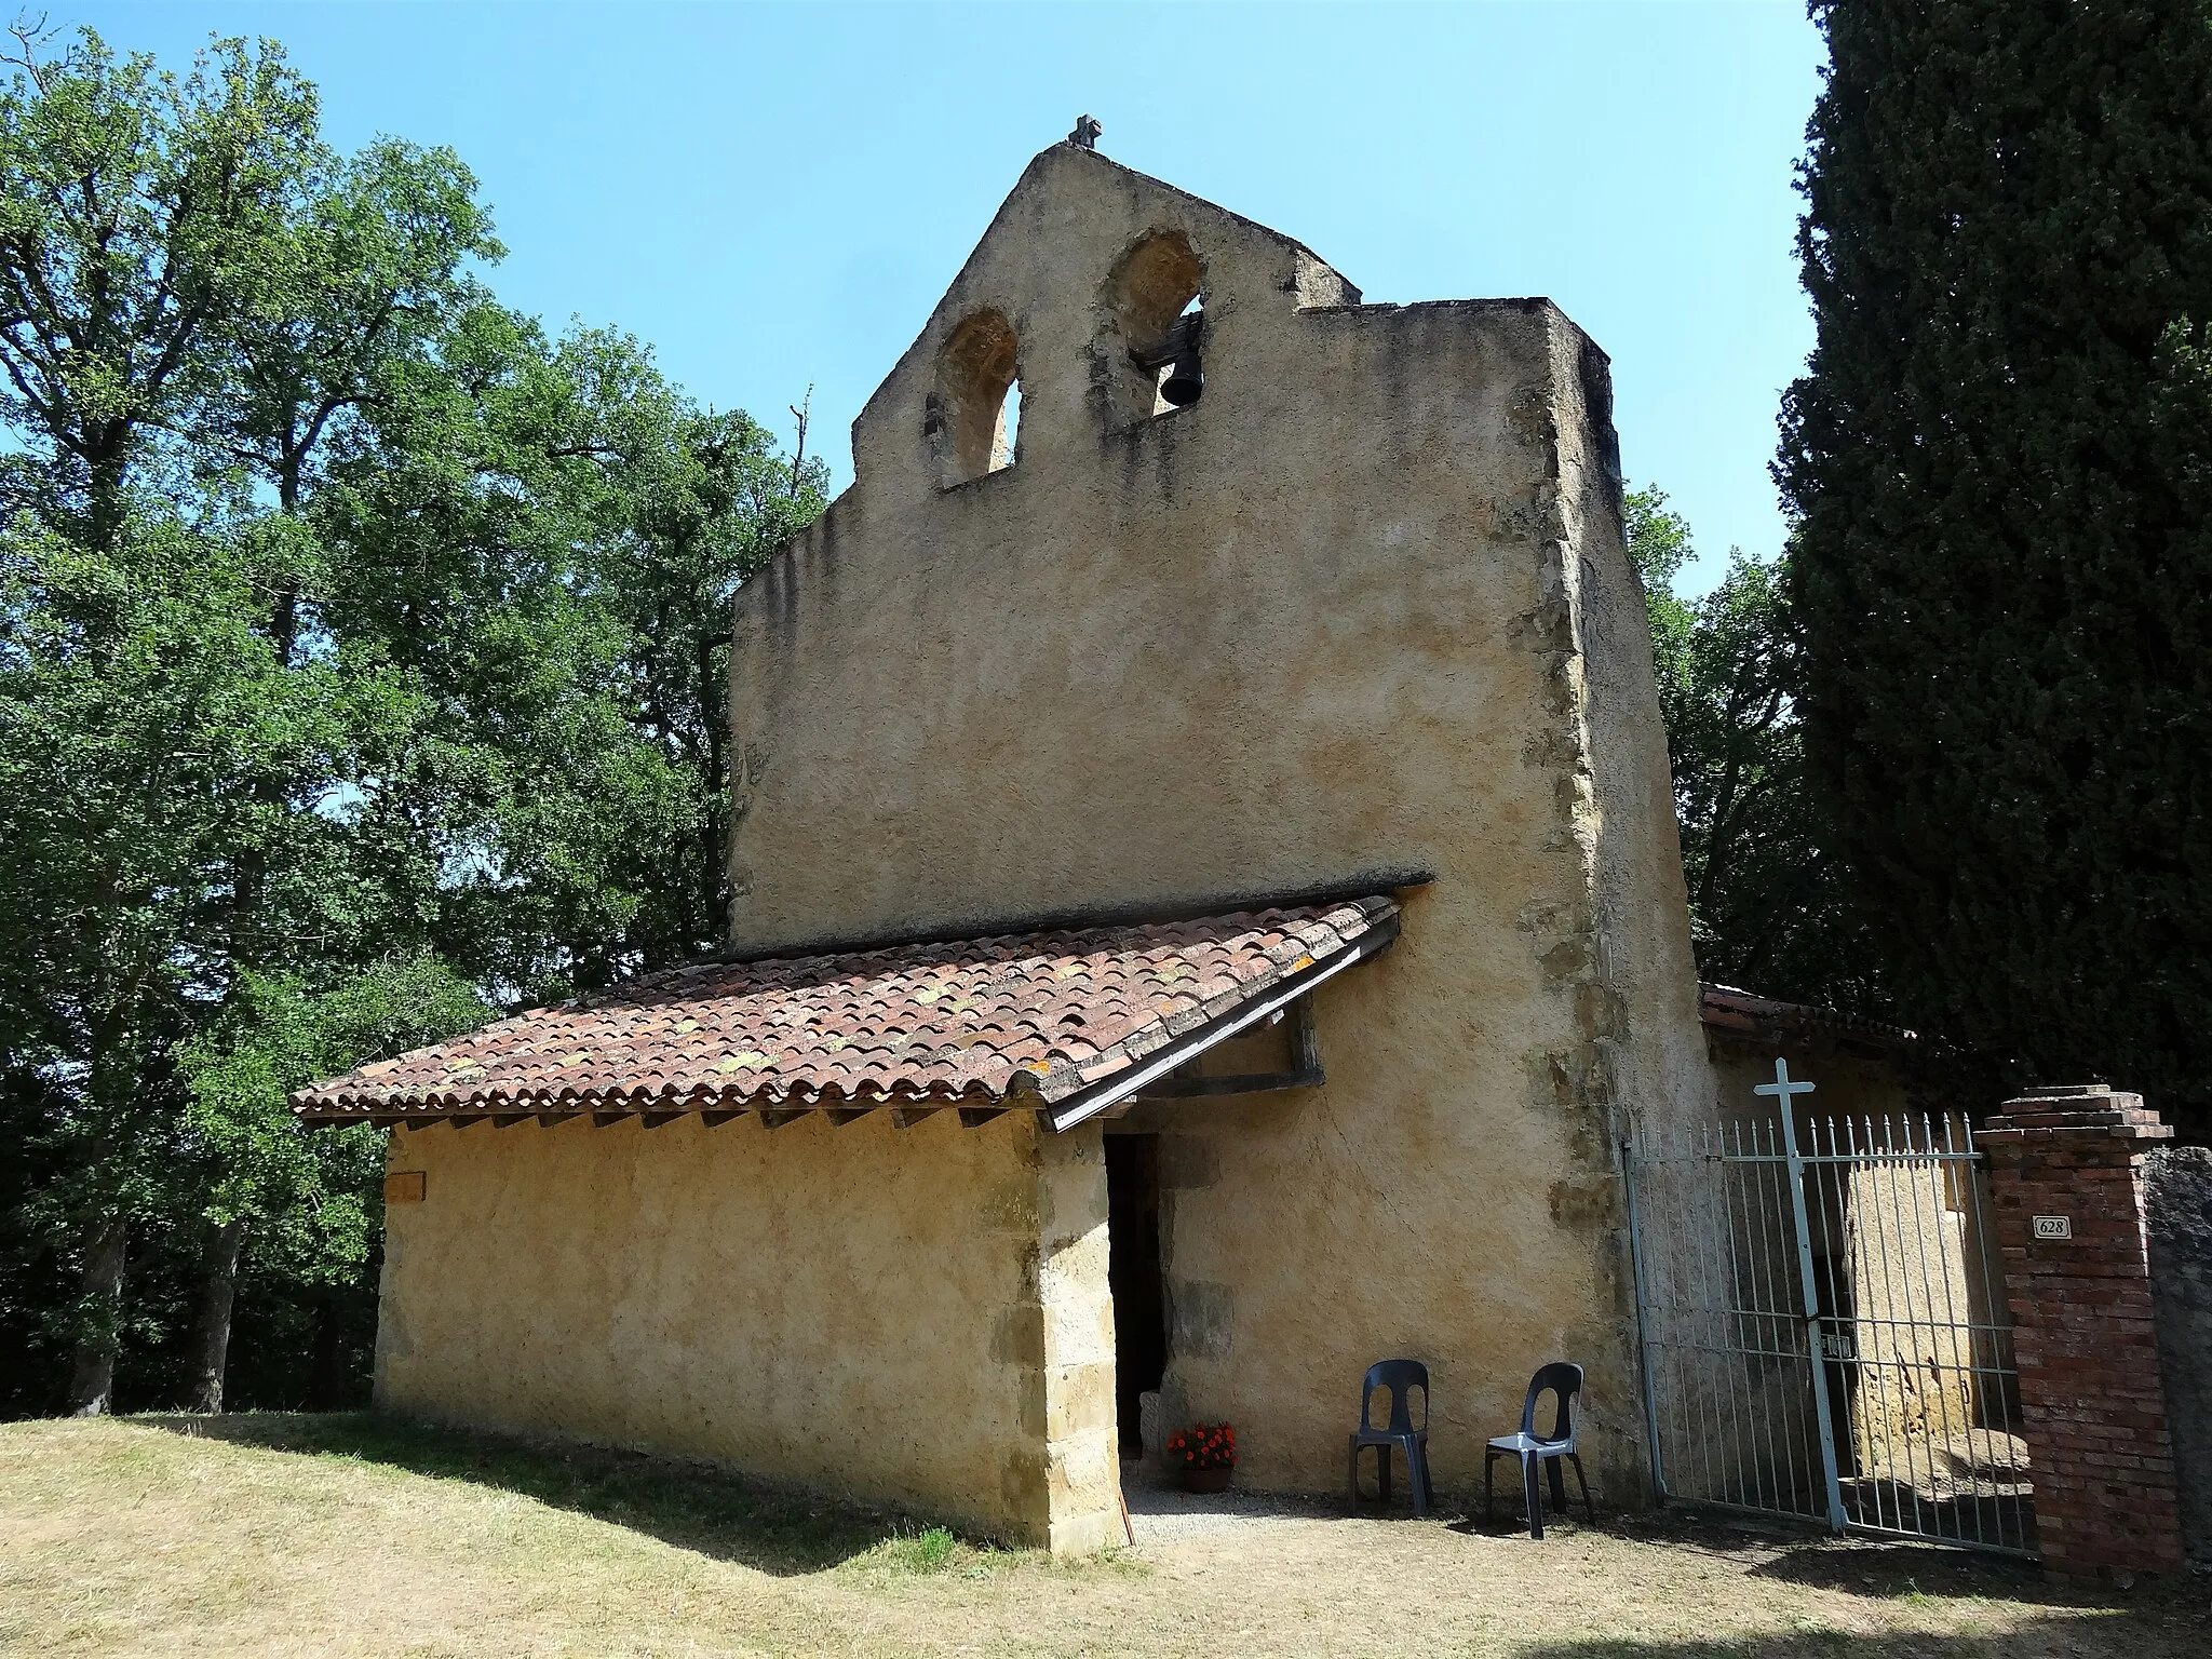
[[[779,1491],[703,1462],[440,1429],[376,1411],[139,1416],[133,1422],[199,1440],[345,1458],[522,1493],[551,1509],[779,1577],[823,1573],[872,1551],[883,1551],[894,1571],[929,1571],[929,1562],[909,1562],[914,1551],[900,1548],[927,1522]]]

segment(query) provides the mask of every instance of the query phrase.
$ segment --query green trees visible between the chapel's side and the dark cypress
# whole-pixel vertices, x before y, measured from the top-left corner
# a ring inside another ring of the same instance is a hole
[[[1688,602],[1672,577],[1694,553],[1690,524],[1659,489],[1630,491],[1624,518],[1650,613],[1699,973],[1880,1009],[1865,927],[1805,787],[1787,562],[1732,549],[1728,575]]]

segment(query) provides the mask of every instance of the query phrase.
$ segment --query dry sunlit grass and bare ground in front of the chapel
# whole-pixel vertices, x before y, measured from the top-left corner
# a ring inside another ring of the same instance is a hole
[[[1155,1524],[1053,1566],[619,1453],[343,1418],[0,1425],[9,1655],[2212,1652],[2205,1579],[1712,1522]]]

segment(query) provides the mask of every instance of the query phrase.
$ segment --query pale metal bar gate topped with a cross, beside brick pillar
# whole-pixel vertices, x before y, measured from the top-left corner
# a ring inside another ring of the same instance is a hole
[[[1663,1498],[2031,1553],[2020,1389],[1962,1117],[1774,1110],[1621,1141]]]

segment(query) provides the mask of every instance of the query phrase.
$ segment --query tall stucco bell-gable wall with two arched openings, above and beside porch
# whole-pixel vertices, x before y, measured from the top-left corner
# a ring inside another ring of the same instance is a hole
[[[1203,268],[1206,396],[1130,420],[1115,272],[1161,232]],[[1245,1482],[1334,1486],[1360,1371],[1411,1354],[1460,1482],[1577,1358],[1632,1500],[1608,1128],[1712,1084],[1606,365],[1546,301],[1354,299],[1102,157],[1031,164],[856,422],[854,487],[737,597],[732,938],[1433,872],[1318,993],[1325,1088],[1126,1119],[1172,1137],[1166,1394],[1237,1420]],[[1018,338],[1018,462],[940,489],[982,314]]]

